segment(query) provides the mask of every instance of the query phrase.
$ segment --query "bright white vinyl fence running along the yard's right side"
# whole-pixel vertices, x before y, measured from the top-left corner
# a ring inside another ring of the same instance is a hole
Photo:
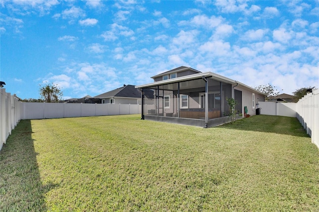
[[[299,100],[297,118],[319,148],[319,89]]]

